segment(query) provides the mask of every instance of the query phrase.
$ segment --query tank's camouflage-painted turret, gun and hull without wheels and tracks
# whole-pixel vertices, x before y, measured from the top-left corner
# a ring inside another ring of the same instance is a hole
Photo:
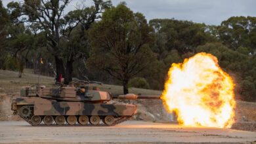
[[[131,117],[137,107],[132,104],[111,104],[112,98],[117,99],[159,99],[160,96],[137,96],[135,94],[111,96],[108,92],[89,90],[88,88],[63,86],[60,88],[23,88],[21,97],[12,100],[12,111],[17,113],[22,106],[28,105],[32,115],[87,115]]]

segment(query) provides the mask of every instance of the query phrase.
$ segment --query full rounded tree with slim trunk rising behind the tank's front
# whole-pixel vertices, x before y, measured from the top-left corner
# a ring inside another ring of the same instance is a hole
[[[152,41],[146,19],[139,12],[133,13],[124,3],[106,10],[89,37],[93,50],[89,65],[103,69],[123,84],[128,93],[129,79],[150,65],[152,52],[147,43]]]

